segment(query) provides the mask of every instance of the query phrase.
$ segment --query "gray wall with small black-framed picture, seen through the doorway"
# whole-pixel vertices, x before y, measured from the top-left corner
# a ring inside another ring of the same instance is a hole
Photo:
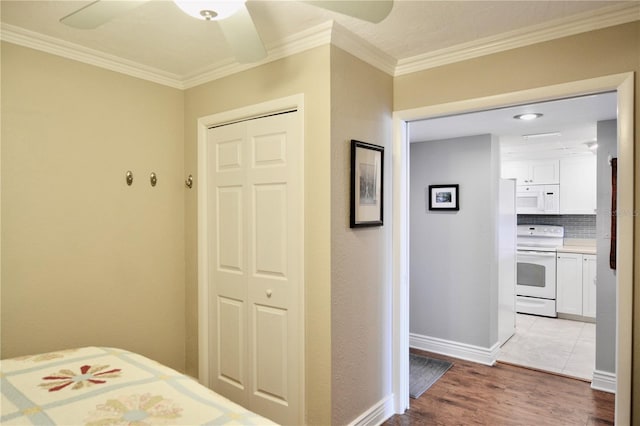
[[[410,149],[410,332],[489,348],[498,338],[497,142],[481,135]],[[429,211],[428,186],[455,183],[460,211]]]

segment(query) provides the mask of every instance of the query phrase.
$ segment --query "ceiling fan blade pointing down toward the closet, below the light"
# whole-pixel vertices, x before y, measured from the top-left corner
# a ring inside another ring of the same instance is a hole
[[[230,17],[218,21],[218,24],[238,62],[250,63],[266,58],[267,51],[244,4]]]

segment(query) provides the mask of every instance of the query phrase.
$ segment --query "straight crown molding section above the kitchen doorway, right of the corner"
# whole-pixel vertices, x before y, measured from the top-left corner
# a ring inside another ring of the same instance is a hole
[[[544,24],[400,59],[394,76],[640,20],[640,2],[625,2]]]

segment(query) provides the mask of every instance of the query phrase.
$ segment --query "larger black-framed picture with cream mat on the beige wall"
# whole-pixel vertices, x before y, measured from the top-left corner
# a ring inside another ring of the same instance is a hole
[[[384,147],[351,141],[351,228],[382,226]]]

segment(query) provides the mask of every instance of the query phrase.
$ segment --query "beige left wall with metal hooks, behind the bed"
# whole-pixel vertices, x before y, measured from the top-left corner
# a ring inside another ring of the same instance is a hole
[[[184,369],[182,91],[9,43],[1,66],[2,357]]]

